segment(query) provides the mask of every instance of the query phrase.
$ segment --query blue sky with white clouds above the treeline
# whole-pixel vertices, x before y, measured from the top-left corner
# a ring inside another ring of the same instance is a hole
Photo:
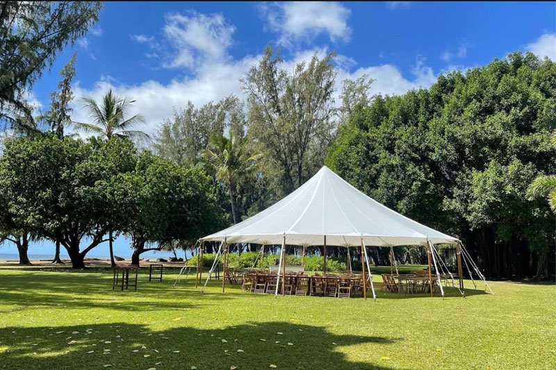
[[[73,119],[87,119],[79,99],[112,87],[136,99],[149,133],[188,100],[243,96],[238,79],[268,43],[281,49],[288,69],[334,50],[337,90],[344,78],[368,74],[376,80],[371,91],[382,94],[428,87],[439,74],[512,51],[556,60],[556,2],[108,2],[99,17],[36,83],[33,101],[47,108],[58,72],[78,51]],[[118,253],[129,255],[123,239]]]

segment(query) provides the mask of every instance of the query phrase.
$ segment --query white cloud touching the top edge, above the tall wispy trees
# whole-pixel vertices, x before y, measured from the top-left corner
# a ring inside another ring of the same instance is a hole
[[[347,41],[351,28],[347,26],[350,10],[341,3],[300,1],[262,4],[261,13],[271,31],[279,33],[279,44],[293,47],[311,42],[321,33],[332,42]]]

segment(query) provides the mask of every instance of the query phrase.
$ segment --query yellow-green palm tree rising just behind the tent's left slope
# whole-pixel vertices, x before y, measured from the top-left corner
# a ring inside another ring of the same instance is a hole
[[[260,153],[251,153],[248,149],[250,139],[241,140],[238,135],[213,135],[208,139],[208,146],[199,155],[203,162],[215,171],[216,178],[227,185],[231,203],[231,215],[237,224],[234,189],[237,181],[256,169],[256,160]]]

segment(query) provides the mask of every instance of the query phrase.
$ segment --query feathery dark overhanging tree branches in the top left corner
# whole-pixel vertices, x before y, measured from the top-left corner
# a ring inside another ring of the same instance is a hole
[[[0,123],[37,131],[26,94],[58,52],[97,22],[101,7],[95,1],[0,3]]]

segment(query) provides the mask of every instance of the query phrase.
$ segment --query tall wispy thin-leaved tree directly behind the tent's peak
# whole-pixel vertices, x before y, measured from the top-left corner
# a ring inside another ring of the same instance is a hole
[[[247,94],[248,134],[265,158],[265,176],[278,195],[299,187],[322,166],[336,125],[334,53],[313,56],[293,72],[267,47],[258,65],[241,79]]]

